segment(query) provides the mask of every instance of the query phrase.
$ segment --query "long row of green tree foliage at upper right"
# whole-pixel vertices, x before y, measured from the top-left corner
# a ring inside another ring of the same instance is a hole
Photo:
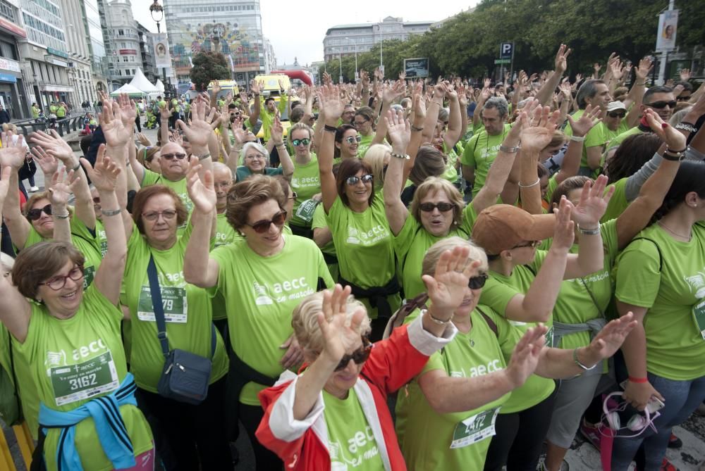
[[[489,75],[502,42],[515,44],[515,70],[552,68],[558,46],[565,43],[572,49],[568,73],[589,75],[596,62],[604,70],[612,52],[632,63],[654,54],[658,13],[667,7],[667,0],[484,0],[472,13],[460,13],[430,32],[404,42],[385,41],[385,75],[396,77],[404,58],[414,57],[428,57],[434,77]],[[704,44],[702,2],[677,0],[676,8],[680,48]],[[378,67],[379,44],[357,54],[357,63],[369,72]],[[331,61],[327,65],[337,81],[338,61],[334,73]],[[343,77],[354,76],[355,59],[343,57]]]

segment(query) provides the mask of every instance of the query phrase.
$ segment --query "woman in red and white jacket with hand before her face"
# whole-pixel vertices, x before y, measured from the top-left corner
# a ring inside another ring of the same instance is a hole
[[[424,277],[429,309],[375,344],[369,343],[364,306],[352,299],[350,287],[337,284],[308,296],[292,319],[305,370],[285,372],[259,394],[265,414],[257,439],[286,469],[345,470],[356,463],[366,470],[405,470],[387,395],[453,339],[449,321],[475,271],[467,248],[443,253],[434,275]]]

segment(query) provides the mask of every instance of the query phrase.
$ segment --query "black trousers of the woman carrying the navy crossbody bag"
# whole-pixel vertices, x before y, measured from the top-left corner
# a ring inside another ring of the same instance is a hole
[[[159,420],[159,432],[169,448],[159,453],[173,458],[170,471],[233,469],[226,439],[225,390],[223,377],[209,386],[205,401],[192,406],[137,389],[140,408]]]

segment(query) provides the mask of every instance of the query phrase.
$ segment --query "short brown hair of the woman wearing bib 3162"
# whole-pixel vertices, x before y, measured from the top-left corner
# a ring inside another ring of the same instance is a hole
[[[39,242],[22,249],[12,268],[13,284],[22,296],[37,299],[39,283],[49,280],[71,261],[83,270],[85,258],[69,242]]]

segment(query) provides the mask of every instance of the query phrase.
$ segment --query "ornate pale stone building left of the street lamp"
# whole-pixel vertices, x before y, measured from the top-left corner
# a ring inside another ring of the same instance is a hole
[[[111,1],[105,11],[109,42],[106,43],[111,91],[129,83],[142,67],[140,35],[130,0]]]

